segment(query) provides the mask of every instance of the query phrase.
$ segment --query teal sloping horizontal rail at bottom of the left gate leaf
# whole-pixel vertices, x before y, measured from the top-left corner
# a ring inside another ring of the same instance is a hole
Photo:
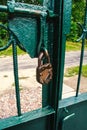
[[[26,122],[33,122],[34,120],[41,120],[42,118],[47,118],[47,116],[50,116],[52,114],[54,114],[55,111],[53,108],[51,108],[50,106],[46,106],[42,109],[38,109],[38,110],[34,110],[32,112],[27,112],[25,114],[22,114],[21,116],[14,116],[14,117],[9,117],[7,119],[2,119],[0,121],[0,129],[11,129],[14,126],[18,126],[20,124],[26,124]],[[40,124],[40,122],[38,122]],[[38,125],[39,125],[38,124]],[[34,124],[33,124],[34,125]],[[33,129],[32,127],[27,127],[27,129]],[[38,126],[39,128],[39,126]],[[22,129],[20,127],[20,129]]]

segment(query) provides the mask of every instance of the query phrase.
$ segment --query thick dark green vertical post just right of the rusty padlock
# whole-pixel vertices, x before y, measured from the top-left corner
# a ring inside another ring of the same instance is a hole
[[[65,48],[65,42],[61,40],[63,37],[62,30],[61,30],[62,29],[61,18],[63,17],[61,14],[62,2],[63,2],[62,0],[48,0],[48,1],[44,0],[44,6],[46,6],[48,9],[51,8],[53,13],[58,15],[58,17],[51,19],[48,25],[48,33],[49,33],[48,48],[49,48],[50,56],[52,56],[51,60],[53,63],[53,80],[51,84],[46,87],[46,89],[43,87],[43,92],[44,92],[43,95],[45,95],[45,97],[47,96],[47,92],[45,93],[44,90],[49,91],[48,92],[49,95],[47,96],[48,102],[55,110],[54,118],[51,120],[52,122],[49,125],[50,130],[58,129],[58,106],[59,106],[59,99],[62,94],[63,64],[64,64],[63,61],[64,56],[62,55],[62,49]]]

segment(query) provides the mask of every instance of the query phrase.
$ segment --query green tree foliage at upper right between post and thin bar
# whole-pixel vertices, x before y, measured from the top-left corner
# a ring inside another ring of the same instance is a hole
[[[68,41],[76,41],[81,36],[78,22],[84,23],[86,0],[72,0],[71,33],[67,35]]]

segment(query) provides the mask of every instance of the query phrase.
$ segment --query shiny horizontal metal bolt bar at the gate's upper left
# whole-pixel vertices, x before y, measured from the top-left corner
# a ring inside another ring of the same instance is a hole
[[[0,5],[0,12],[9,12],[7,6]],[[35,10],[35,9],[25,9],[25,8],[14,8],[15,13],[24,13],[24,14],[30,14],[30,15],[36,15],[36,16],[46,16],[47,12],[46,10]]]

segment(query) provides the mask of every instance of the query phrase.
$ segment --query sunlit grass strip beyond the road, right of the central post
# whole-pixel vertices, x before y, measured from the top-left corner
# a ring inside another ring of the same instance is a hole
[[[80,42],[66,42],[66,51],[78,51],[81,50],[81,44]],[[85,50],[87,50],[87,41],[85,44]]]

